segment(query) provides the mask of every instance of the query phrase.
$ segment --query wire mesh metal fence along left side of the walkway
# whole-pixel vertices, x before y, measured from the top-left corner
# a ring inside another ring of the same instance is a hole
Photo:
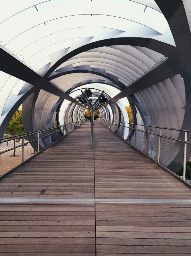
[[[0,177],[49,147],[86,120],[0,139]]]

